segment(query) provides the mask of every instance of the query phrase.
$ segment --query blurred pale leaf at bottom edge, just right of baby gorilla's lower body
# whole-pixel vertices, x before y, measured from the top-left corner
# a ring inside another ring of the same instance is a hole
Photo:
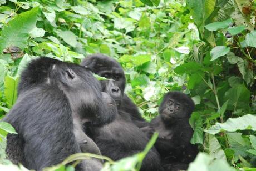
[[[235,169],[230,167],[229,164],[223,159],[215,160],[208,154],[199,153],[196,156],[194,162],[189,164],[188,171],[213,171],[213,170],[225,170],[225,171],[234,171]]]

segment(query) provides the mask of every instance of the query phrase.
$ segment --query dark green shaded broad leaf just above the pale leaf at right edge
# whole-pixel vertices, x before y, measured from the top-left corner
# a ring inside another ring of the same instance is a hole
[[[243,84],[234,86],[225,93],[224,100],[229,100],[229,110],[247,109],[250,102],[250,91]]]

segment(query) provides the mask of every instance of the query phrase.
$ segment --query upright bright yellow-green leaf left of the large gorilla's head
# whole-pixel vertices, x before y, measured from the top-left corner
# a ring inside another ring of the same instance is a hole
[[[6,76],[4,78],[4,95],[6,96],[7,103],[10,107],[16,102],[17,99],[17,86],[18,77]]]

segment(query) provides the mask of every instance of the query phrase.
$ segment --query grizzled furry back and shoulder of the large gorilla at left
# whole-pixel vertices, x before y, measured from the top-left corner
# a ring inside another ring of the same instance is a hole
[[[3,121],[24,143],[24,166],[42,170],[80,152],[68,100],[57,87],[40,86],[21,95]]]

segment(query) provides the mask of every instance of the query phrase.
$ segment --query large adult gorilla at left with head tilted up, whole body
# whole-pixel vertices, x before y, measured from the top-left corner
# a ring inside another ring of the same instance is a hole
[[[81,125],[107,123],[114,115],[105,113],[99,81],[85,68],[35,59],[23,71],[18,91],[17,103],[3,119],[18,133],[7,137],[6,152],[13,163],[42,170],[81,151],[100,154]],[[101,163],[96,168],[90,167],[93,163],[83,160],[76,169],[100,170]]]

